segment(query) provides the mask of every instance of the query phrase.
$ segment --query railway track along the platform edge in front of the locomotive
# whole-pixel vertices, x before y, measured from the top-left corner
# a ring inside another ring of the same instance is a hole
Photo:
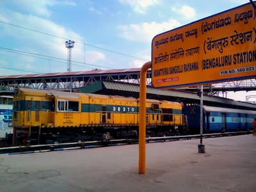
[[[219,132],[212,134],[204,134],[203,138],[214,138],[222,136],[236,136],[241,134],[252,134],[253,131],[237,131],[237,132]],[[183,136],[161,136],[161,137],[148,137],[147,143],[153,142],[168,142],[177,140],[195,140],[199,139],[200,134],[191,134]],[[102,140],[102,141],[77,141],[72,143],[53,143],[44,145],[20,145],[13,147],[1,147],[0,154],[28,154],[38,152],[50,152],[60,150],[72,150],[83,148],[96,148],[96,147],[110,147],[115,145],[129,145],[138,143],[138,139],[120,139],[120,140]]]

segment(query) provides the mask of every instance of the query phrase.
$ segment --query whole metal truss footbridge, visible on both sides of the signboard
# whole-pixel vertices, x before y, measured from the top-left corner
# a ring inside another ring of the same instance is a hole
[[[152,84],[151,71],[147,72],[147,85]],[[15,78],[0,77],[0,91],[13,91],[15,87],[28,87],[35,89],[51,89],[51,90],[65,90],[70,91],[76,88],[81,88],[96,81],[120,81],[124,83],[140,84],[140,69],[132,72],[125,72],[125,70],[116,70],[116,72],[109,73],[108,70],[100,73],[95,71],[95,74],[81,74],[81,75],[62,75],[62,76],[20,76]],[[195,91],[195,88],[179,88],[179,90]],[[225,83],[211,84],[204,86],[204,91],[209,92],[209,95],[218,95],[219,92],[229,91],[250,91],[256,90],[256,79],[247,79],[243,81],[232,81]]]

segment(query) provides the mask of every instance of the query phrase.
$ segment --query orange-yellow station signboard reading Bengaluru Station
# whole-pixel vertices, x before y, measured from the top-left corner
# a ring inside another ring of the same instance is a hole
[[[252,3],[156,35],[156,88],[256,78],[256,13]]]

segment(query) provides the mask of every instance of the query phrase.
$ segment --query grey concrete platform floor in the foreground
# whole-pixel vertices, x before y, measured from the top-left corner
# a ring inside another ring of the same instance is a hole
[[[0,191],[256,191],[256,136],[147,144],[145,175],[138,145],[0,154]]]

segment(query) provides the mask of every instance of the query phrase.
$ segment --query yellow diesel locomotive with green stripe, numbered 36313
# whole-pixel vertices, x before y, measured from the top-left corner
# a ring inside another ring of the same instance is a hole
[[[139,99],[113,95],[17,88],[13,97],[13,145],[44,143],[65,136],[138,135]],[[147,100],[147,132],[184,129],[182,105]],[[83,139],[82,139],[83,140]]]

